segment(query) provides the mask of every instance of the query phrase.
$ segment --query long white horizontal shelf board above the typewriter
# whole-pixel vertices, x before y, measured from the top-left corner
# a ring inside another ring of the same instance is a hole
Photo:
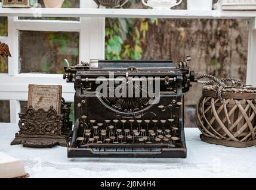
[[[104,8],[0,8],[8,17],[130,17],[130,18],[253,18],[256,11],[190,11],[185,9],[104,9]]]

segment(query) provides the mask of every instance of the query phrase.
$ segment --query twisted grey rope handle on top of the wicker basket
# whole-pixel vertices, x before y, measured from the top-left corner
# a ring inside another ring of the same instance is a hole
[[[211,80],[208,81],[201,81],[200,79],[202,78],[210,78]],[[198,77],[196,77],[196,81],[199,84],[212,84],[212,83],[218,83],[218,85],[220,86],[217,90],[217,97],[221,100],[221,102],[223,101],[223,97],[222,97],[222,91],[223,89],[227,86],[225,84],[225,82],[231,81],[233,85],[235,84],[241,84],[241,81],[238,78],[223,78],[223,79],[218,79],[212,75],[209,74],[203,74],[203,75],[199,75]]]

